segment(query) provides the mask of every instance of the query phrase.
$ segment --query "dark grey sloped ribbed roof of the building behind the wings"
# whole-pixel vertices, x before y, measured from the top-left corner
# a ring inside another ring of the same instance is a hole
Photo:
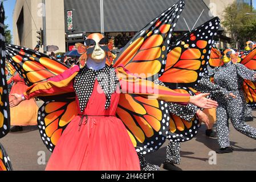
[[[137,32],[177,0],[103,0],[103,2],[105,32]],[[66,10],[75,10],[76,32],[100,32],[100,0],[65,0],[64,6]],[[175,31],[188,31],[204,24],[213,18],[209,11],[202,0],[186,0],[185,9]]]

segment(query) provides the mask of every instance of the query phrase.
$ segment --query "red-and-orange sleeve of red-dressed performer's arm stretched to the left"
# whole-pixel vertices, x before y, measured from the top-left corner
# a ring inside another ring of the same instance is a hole
[[[26,100],[39,96],[55,96],[74,92],[74,78],[79,72],[79,67],[74,66],[60,75],[48,78],[46,81],[38,82],[30,86],[24,93]]]

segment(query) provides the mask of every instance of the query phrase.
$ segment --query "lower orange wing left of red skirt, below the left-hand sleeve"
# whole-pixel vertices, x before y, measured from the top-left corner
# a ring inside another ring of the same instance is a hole
[[[54,151],[56,144],[68,123],[78,115],[75,93],[47,97],[38,110],[38,127],[43,143]]]

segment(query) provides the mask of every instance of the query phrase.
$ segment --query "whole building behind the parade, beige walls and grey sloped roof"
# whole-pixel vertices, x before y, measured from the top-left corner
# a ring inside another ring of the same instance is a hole
[[[186,0],[175,35],[184,35],[213,16],[221,18],[223,7],[228,4],[226,2],[233,1]],[[47,46],[55,45],[59,47],[58,52],[66,52],[74,48],[76,42],[83,42],[83,34],[102,30],[106,36],[116,38],[117,46],[124,46],[140,28],[176,2],[177,0],[103,0],[101,14],[100,0],[46,0]],[[211,14],[208,5],[214,2],[218,9]],[[42,28],[42,8],[42,0],[16,2],[13,13],[14,44],[35,47],[38,40],[36,31]],[[104,26],[101,26],[101,19],[104,20]],[[223,28],[220,35],[222,31]]]

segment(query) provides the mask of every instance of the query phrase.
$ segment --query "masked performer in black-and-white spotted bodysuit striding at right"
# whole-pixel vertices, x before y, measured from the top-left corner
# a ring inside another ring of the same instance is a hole
[[[247,69],[244,65],[237,63],[235,51],[227,49],[224,52],[224,65],[212,69],[210,75],[214,75],[214,82],[233,93],[234,97],[216,97],[219,106],[217,107],[217,135],[220,150],[217,152],[233,152],[229,142],[229,119],[235,130],[256,139],[256,129],[245,123],[245,94],[242,90],[243,79],[256,81],[255,71]]]

